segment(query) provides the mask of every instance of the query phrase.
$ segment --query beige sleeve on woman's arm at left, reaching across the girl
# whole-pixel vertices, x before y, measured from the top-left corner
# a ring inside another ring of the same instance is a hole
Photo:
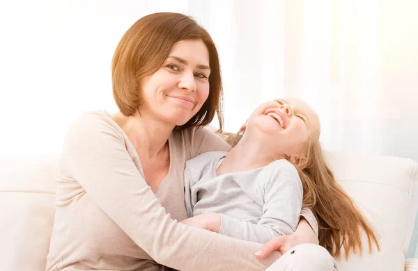
[[[139,174],[123,133],[98,115],[72,124],[61,166],[134,243],[177,270],[265,270],[279,254],[259,260],[260,244],[235,240],[171,219]]]

